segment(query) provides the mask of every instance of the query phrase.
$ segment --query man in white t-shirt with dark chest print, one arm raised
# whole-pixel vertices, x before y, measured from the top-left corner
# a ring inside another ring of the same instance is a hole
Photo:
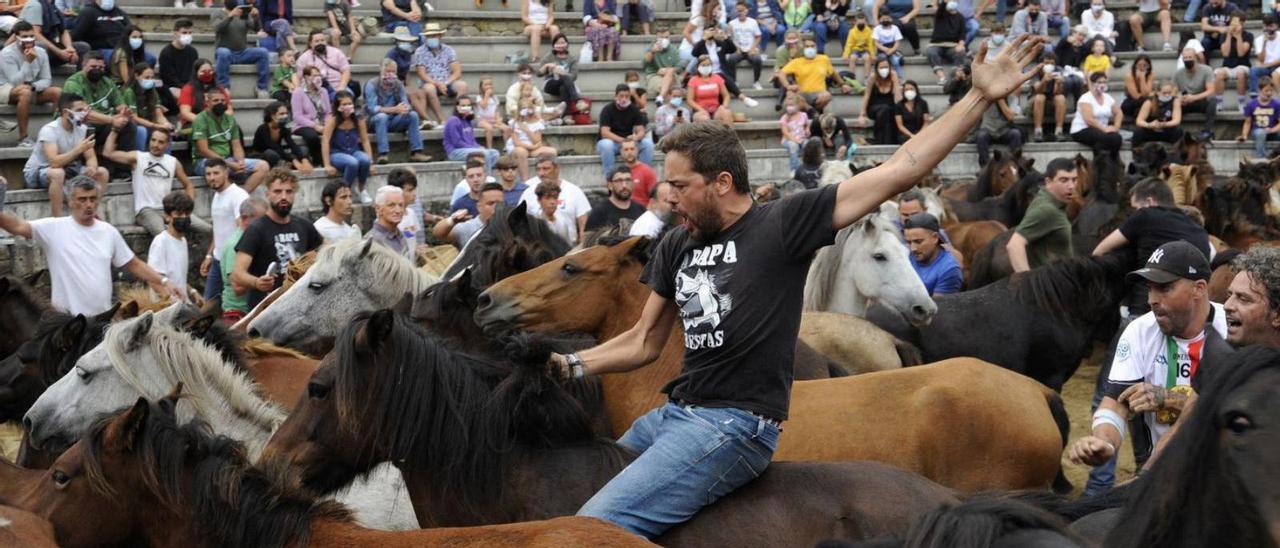
[[[154,129],[147,140],[147,150],[120,151],[116,147],[116,132],[106,136],[102,156],[133,169],[133,222],[147,229],[151,236],[165,232],[165,214],[160,201],[173,189],[173,179],[182,183],[183,192],[196,200],[196,187],[187,178],[187,172],[177,157],[165,154],[169,150],[169,132]],[[191,228],[205,234],[214,228],[204,219],[191,215]]]

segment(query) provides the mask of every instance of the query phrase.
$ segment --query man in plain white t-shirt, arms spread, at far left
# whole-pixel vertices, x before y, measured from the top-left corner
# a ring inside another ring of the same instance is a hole
[[[8,182],[0,179],[0,186],[8,186]],[[96,181],[86,175],[73,177],[63,192],[70,216],[32,222],[4,213],[0,198],[0,229],[31,238],[45,251],[55,309],[86,316],[109,310],[113,266],[146,282],[156,293],[182,298],[182,291],[172,280],[133,255],[120,230],[96,219],[100,196]]]

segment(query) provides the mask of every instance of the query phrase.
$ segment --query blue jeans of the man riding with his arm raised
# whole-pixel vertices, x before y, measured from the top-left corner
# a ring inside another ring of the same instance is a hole
[[[618,444],[640,456],[577,515],[653,539],[759,476],[778,429],[737,408],[667,403],[636,419]]]

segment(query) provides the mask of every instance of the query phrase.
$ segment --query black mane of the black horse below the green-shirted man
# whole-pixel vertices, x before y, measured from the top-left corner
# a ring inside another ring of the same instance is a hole
[[[1101,257],[1068,257],[1037,266],[1009,280],[1014,298],[1076,325],[1093,325],[1124,293],[1132,264],[1128,250]]]

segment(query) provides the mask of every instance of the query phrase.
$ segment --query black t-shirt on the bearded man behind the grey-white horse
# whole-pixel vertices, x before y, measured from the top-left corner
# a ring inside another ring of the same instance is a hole
[[[296,215],[289,216],[287,224],[279,224],[270,216],[262,215],[244,229],[239,243],[236,245],[237,254],[248,254],[253,261],[248,264],[248,273],[253,275],[266,274],[266,268],[271,262],[280,264],[280,271],[291,260],[301,257],[307,251],[320,247],[324,238],[311,225],[311,222]],[[276,277],[275,287],[280,287],[284,277]],[[266,293],[257,289],[248,291],[250,309],[257,306]]]

